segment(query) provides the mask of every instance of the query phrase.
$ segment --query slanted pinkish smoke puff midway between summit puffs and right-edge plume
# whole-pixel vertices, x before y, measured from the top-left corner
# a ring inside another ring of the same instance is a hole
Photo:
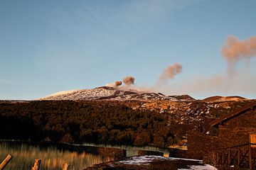
[[[181,74],[181,72],[182,72],[181,64],[174,63],[163,70],[163,72],[159,77],[159,80],[164,81],[167,79],[174,79],[174,77],[176,77],[177,74]]]

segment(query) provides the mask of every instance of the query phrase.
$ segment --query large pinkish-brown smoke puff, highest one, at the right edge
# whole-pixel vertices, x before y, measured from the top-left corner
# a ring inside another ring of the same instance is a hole
[[[228,62],[254,57],[256,55],[256,36],[252,36],[248,40],[239,40],[233,35],[228,35],[222,47],[222,55]]]

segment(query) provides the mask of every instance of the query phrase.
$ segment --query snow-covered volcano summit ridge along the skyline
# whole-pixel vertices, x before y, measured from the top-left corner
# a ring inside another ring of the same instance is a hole
[[[197,99],[183,95],[166,96],[161,93],[149,91],[137,91],[128,87],[110,87],[100,86],[94,89],[79,89],[69,91],[58,91],[43,98],[36,100],[72,100],[72,101],[197,101]],[[243,101],[247,98],[241,96],[210,96],[200,101],[206,103],[221,102],[221,101]]]

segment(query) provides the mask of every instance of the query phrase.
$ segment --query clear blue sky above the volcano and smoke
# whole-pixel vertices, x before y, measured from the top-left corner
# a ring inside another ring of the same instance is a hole
[[[256,35],[255,0],[0,0],[0,100],[89,89],[128,75],[151,85],[174,62],[183,73],[170,84],[225,74],[227,35]],[[188,94],[256,97],[243,88]]]

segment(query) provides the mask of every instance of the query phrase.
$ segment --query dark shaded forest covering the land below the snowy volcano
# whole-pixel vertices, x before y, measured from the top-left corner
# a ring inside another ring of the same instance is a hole
[[[166,147],[176,142],[165,115],[107,102],[0,103],[1,139]]]

